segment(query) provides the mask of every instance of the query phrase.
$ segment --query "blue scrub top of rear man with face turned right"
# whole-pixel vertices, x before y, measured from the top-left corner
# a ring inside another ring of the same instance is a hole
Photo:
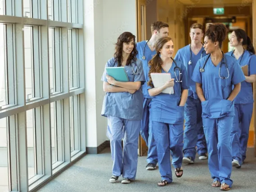
[[[140,59],[142,61],[145,77],[147,76],[146,71],[148,69],[148,62],[156,54],[156,51],[155,50],[151,51],[151,49],[146,44],[146,42],[147,41],[141,41],[137,43],[137,51],[138,51],[137,59]],[[145,47],[145,50],[144,50],[144,47]],[[143,50],[144,50],[145,59],[142,59]],[[142,91],[143,91],[144,98],[151,98],[151,96],[148,94],[148,91],[147,91],[147,82],[142,86]]]

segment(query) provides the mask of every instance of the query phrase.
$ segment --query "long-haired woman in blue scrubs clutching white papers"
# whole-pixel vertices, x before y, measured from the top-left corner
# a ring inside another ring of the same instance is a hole
[[[183,124],[184,105],[189,84],[184,65],[172,59],[174,44],[170,37],[160,38],[155,45],[156,55],[149,61],[148,92],[151,101],[151,122],[156,142],[159,171],[162,180],[158,186],[172,183],[170,151],[175,174],[183,175]],[[170,73],[172,79],[161,87],[154,87],[151,73]],[[174,88],[174,94],[162,93],[167,87]]]

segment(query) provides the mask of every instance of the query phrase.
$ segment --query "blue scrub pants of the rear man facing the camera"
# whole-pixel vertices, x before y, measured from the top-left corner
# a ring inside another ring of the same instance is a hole
[[[183,153],[185,157],[192,157],[194,161],[196,154],[207,153],[206,138],[202,125],[202,106],[200,99],[187,97],[184,109],[185,130]],[[197,146],[197,151],[196,151]]]

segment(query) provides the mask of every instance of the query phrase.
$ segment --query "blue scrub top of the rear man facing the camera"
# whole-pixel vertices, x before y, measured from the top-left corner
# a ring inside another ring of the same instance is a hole
[[[188,76],[188,82],[189,82],[189,90],[188,90],[188,97],[192,97],[194,99],[197,99],[197,91],[196,91],[196,82],[194,82],[191,77],[193,74],[193,71],[196,67],[197,61],[201,58],[203,58],[204,56],[206,56],[206,51],[205,49],[202,47],[201,50],[198,52],[197,55],[195,55],[192,52],[191,55],[191,62],[192,64],[188,64],[189,60],[190,60],[190,45],[187,45],[181,49],[178,50],[178,52],[176,53],[174,59],[181,61],[187,70],[187,76]]]

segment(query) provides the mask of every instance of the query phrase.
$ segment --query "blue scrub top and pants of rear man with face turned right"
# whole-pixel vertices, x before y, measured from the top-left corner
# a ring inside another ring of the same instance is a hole
[[[144,49],[145,48],[145,49]],[[143,55],[144,50],[144,55]],[[142,61],[143,70],[145,77],[147,76],[146,71],[148,69],[148,62],[152,59],[152,57],[156,54],[155,50],[151,51],[149,46],[146,44],[146,41],[141,41],[137,43],[137,58]],[[145,59],[142,57],[145,56]],[[155,139],[153,136],[152,128],[151,128],[151,119],[150,119],[150,109],[151,109],[151,96],[147,91],[147,82],[142,86],[142,91],[144,95],[143,99],[143,114],[141,121],[141,136],[143,140],[146,142],[146,146],[148,147],[147,152],[147,163],[157,164],[157,152],[155,146]]]

